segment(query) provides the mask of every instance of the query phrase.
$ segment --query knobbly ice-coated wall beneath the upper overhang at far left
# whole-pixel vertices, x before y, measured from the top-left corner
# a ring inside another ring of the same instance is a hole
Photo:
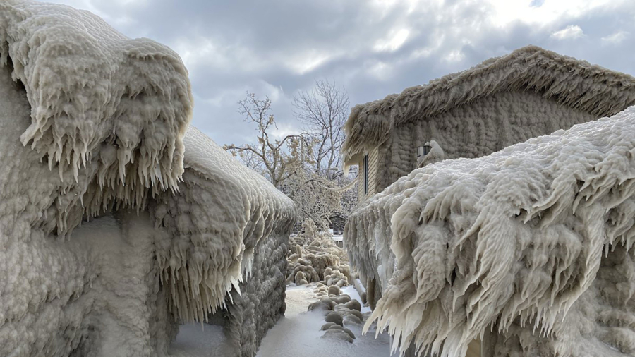
[[[0,67],[0,356],[164,351],[171,322],[150,217],[120,210],[66,238],[49,233],[57,221],[47,210],[78,183],[72,173],[61,181],[20,143],[29,113],[25,92]]]

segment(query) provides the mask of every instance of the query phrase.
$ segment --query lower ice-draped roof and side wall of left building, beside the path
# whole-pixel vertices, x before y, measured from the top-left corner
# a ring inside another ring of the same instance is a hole
[[[156,243],[162,282],[182,320],[205,320],[224,306],[229,338],[240,356],[253,356],[284,313],[296,209],[198,129],[183,141],[179,193],[162,193],[150,206],[155,225],[165,227]]]

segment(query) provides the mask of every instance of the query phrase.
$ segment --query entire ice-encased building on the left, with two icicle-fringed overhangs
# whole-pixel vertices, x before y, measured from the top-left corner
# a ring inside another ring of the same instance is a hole
[[[179,56],[68,6],[0,1],[0,356],[253,356],[295,207],[189,126]]]

